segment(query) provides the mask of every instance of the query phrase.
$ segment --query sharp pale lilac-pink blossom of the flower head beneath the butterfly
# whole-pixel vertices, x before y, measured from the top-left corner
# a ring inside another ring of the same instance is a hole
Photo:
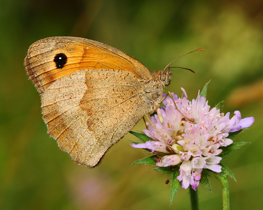
[[[151,123],[146,123],[149,129],[143,131],[154,141],[131,146],[157,154],[159,167],[180,167],[177,179],[182,187],[187,189],[191,185],[196,190],[204,168],[221,172],[218,163],[222,158],[218,154],[222,152],[220,148],[233,143],[227,138],[229,133],[251,126],[254,118],[241,119],[240,112],[235,111],[230,119],[229,112],[220,113],[216,107],[210,109],[204,96],[188,101],[185,90],[181,89],[185,95],[182,99],[171,93],[174,101],[167,97],[164,107],[157,109]]]

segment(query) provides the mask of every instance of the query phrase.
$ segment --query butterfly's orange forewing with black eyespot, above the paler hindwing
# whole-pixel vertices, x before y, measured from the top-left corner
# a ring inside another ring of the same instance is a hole
[[[59,66],[59,56],[65,64]],[[57,57],[56,57],[57,56]],[[51,37],[31,45],[25,58],[28,77],[44,92],[55,80],[82,69],[123,69],[138,79],[142,74],[151,78],[150,71],[139,61],[108,45],[75,37]]]

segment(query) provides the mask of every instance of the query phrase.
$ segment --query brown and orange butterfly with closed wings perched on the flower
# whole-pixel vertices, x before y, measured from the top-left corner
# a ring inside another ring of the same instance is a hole
[[[159,107],[171,79],[169,69],[150,72],[123,51],[77,37],[33,43],[24,65],[40,93],[48,133],[88,167]]]

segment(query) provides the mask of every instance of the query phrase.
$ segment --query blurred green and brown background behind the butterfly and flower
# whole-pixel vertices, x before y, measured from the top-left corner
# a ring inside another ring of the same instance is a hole
[[[50,36],[84,37],[114,46],[150,70],[177,60],[166,89],[188,98],[211,79],[211,106],[240,110],[255,123],[235,141],[252,144],[224,159],[231,209],[262,209],[263,2],[250,1],[56,1],[0,0],[0,208],[189,209],[188,190],[170,206],[167,175],[131,163],[146,156],[127,134],[94,169],[74,163],[47,135],[40,97],[23,61],[28,47]],[[133,131],[142,131],[140,121]],[[199,187],[200,209],[222,209],[221,187]],[[170,208],[169,208],[170,206]]]

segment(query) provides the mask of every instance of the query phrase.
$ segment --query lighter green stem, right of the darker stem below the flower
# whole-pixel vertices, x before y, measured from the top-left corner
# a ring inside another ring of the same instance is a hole
[[[222,173],[214,173],[214,175],[222,185],[223,210],[229,210],[229,185],[226,179],[227,175]]]

